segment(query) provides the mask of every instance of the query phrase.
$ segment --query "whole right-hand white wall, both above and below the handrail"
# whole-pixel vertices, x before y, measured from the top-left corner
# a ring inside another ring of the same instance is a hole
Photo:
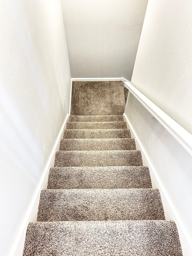
[[[131,84],[192,133],[192,2],[149,0]],[[130,94],[125,108],[168,219],[192,255],[192,157]],[[155,173],[155,174],[154,174]]]

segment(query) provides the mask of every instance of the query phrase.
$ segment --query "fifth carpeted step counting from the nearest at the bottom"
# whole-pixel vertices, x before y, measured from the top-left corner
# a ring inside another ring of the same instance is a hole
[[[62,139],[59,150],[135,150],[135,139]]]

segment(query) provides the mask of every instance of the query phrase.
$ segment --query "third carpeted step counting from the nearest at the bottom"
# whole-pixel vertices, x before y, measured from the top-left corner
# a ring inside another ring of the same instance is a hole
[[[47,188],[152,188],[152,183],[146,166],[53,167]]]

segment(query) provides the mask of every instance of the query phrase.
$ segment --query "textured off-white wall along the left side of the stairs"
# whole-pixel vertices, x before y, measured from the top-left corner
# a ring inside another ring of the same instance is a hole
[[[70,99],[59,0],[1,1],[0,251],[9,255]]]

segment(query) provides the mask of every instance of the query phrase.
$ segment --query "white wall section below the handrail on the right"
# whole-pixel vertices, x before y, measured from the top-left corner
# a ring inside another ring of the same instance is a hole
[[[166,198],[161,194],[166,218],[176,221],[184,255],[191,255],[192,157],[131,93],[125,115],[161,182],[159,184],[152,173],[153,186],[166,193]]]

